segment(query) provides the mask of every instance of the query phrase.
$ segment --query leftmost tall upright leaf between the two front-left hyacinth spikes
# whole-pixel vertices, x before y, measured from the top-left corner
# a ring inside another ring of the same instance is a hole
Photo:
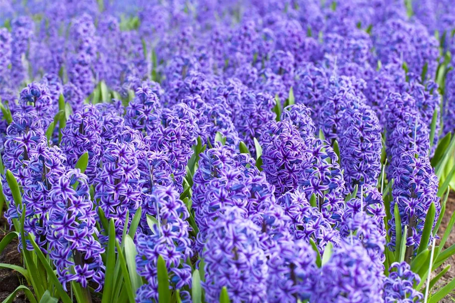
[[[114,287],[114,270],[115,270],[115,225],[114,220],[109,221],[108,240],[107,240],[107,260],[106,272],[104,275],[103,298],[101,303],[114,302],[111,298]]]

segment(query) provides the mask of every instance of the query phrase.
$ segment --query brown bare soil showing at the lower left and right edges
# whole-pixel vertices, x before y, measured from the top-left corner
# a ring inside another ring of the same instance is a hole
[[[444,235],[446,231],[446,227],[449,224],[449,220],[452,214],[455,211],[455,192],[451,192],[449,195],[449,199],[447,200],[446,204],[446,213],[444,218],[441,222],[440,230],[438,234],[440,236]],[[7,226],[6,221],[4,218],[0,219],[0,241],[3,237],[9,232],[9,227]],[[449,248],[451,245],[455,243],[455,231],[453,230],[452,233],[449,235],[449,239],[447,240],[446,244],[444,245],[444,249]],[[17,239],[14,239],[10,244],[6,246],[3,252],[0,254],[0,263],[6,264],[13,264],[18,266],[23,266],[20,253],[17,250]],[[452,256],[448,259],[441,269],[446,267],[447,265],[451,265],[451,269],[441,278],[440,283],[438,283],[437,287],[445,286],[449,281],[451,281],[455,277],[455,256]],[[438,272],[438,271],[437,271]],[[434,276],[435,274],[433,274]],[[10,269],[0,269],[0,302],[6,299],[18,286],[22,283],[25,283],[23,277],[15,271]],[[31,288],[30,288],[31,289]],[[98,302],[98,298],[93,298],[94,303]],[[441,303],[454,303],[455,300],[455,293],[447,296]],[[18,292],[16,294],[13,303],[28,303],[29,301],[26,299],[23,292]]]

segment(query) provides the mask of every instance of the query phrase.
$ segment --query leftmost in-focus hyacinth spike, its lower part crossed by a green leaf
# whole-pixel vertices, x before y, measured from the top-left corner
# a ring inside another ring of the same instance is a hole
[[[23,186],[25,174],[23,167],[27,165],[33,149],[38,145],[46,144],[46,136],[42,128],[41,120],[37,119],[34,113],[16,113],[11,124],[6,129],[6,137],[3,151],[3,165],[11,171],[17,183]],[[18,219],[19,213],[5,175],[2,174],[3,193],[9,203],[5,218],[12,224],[12,219]]]

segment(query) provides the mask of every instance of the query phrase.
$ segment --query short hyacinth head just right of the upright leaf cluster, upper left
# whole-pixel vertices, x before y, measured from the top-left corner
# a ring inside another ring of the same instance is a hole
[[[142,85],[126,108],[125,125],[152,134],[161,124],[161,104],[150,87]]]

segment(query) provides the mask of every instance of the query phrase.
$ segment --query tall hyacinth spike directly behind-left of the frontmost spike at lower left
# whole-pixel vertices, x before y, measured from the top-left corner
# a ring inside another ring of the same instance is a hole
[[[22,172],[24,231],[35,236],[35,242],[43,252],[46,252],[49,241],[47,227],[48,211],[53,204],[52,185],[65,173],[65,161],[65,155],[58,147],[47,147],[47,144],[41,143],[32,150],[30,160]],[[19,216],[22,213],[20,209],[17,212]],[[33,250],[28,240],[26,243],[26,249]]]

